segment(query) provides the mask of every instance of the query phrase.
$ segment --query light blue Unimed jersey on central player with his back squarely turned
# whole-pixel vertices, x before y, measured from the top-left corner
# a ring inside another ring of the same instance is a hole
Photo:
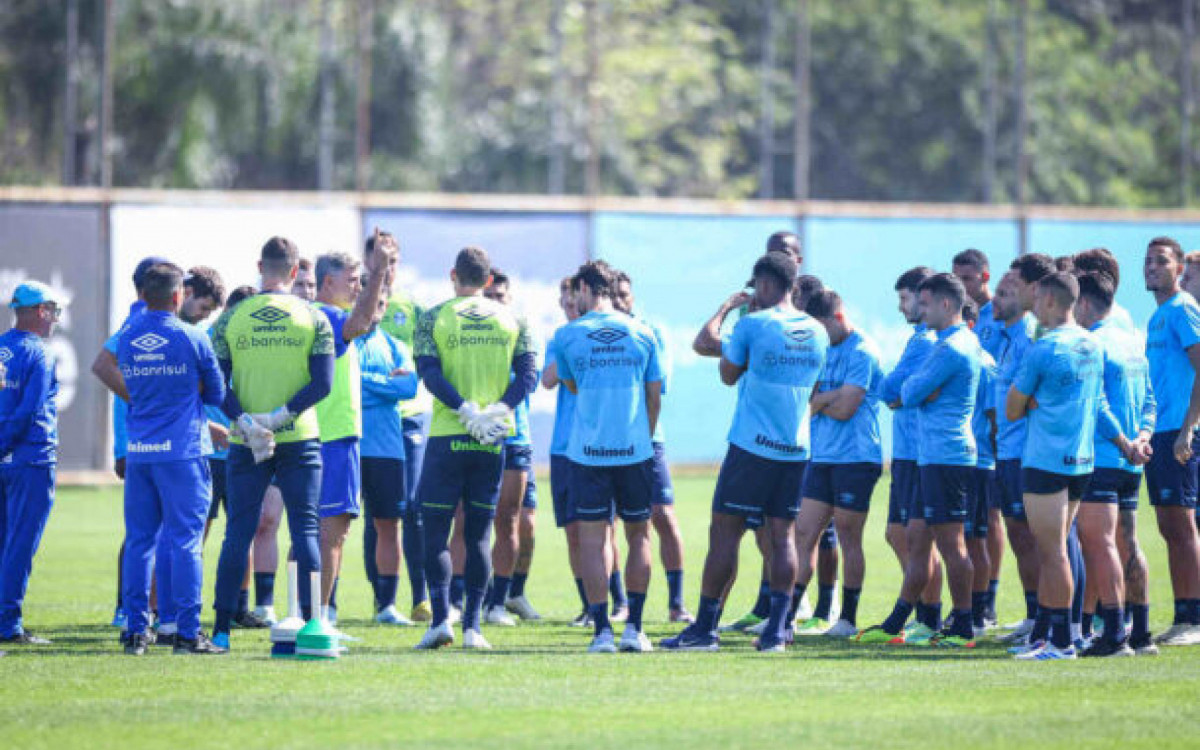
[[[619,312],[589,312],[554,335],[558,377],[577,389],[566,455],[584,466],[650,458],[646,384],[661,383],[654,332]]]

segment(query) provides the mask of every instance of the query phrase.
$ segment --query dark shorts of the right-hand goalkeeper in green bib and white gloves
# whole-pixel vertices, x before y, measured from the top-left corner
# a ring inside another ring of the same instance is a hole
[[[462,500],[464,512],[493,518],[503,479],[503,446],[467,436],[430,438],[416,487],[421,514],[452,516]]]

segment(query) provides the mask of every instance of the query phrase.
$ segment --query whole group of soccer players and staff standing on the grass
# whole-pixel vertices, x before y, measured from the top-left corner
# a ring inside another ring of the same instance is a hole
[[[271,238],[260,287],[228,298],[211,269],[144,259],[138,301],[92,367],[114,394],[125,479],[114,624],[126,652],[217,654],[234,628],[274,624],[284,511],[305,618],[336,624],[342,550],[361,516],[376,620],[427,622],[418,648],[455,642],[460,624],[463,647],[490,648],[482,625],[539,619],[524,594],[536,509],[528,397],[539,383],[558,390],[551,494],[590,652],[653,648],[642,626],[652,528],[670,619],[686,625],[664,649],[716,650],[721,631],[742,630],[764,652],[810,635],[971,649],[997,626],[1006,538],[1026,616],[1000,637],[1018,659],[1200,644],[1200,256],[1151,240],[1144,274],[1158,310],[1146,336],[1114,301],[1120,266],[1103,248],[1021,256],[995,296],[977,250],[956,254],[950,272],[910,269],[895,292],[912,335],[889,372],[838,292],[799,274],[802,260],[794,234],[773,235],[749,288],[694,343],[737,388],[694,618],[659,419],[668,344],[635,312],[620,270],[596,260],[563,280],[566,322],[540,352],[508,277],[479,247],[458,253],[451,299],[430,310],[394,283],[400,247],[378,230],[361,263],[312,263]],[[196,326],[222,306],[210,329]],[[20,604],[53,502],[54,372],[40,342],[59,302],[31,282],[12,307],[18,325],[0,337],[0,642],[40,643]],[[887,540],[902,583],[890,614],[862,628],[884,409]],[[1175,592],[1174,624],[1157,638],[1136,535],[1142,473]],[[200,554],[222,505],[209,637]],[[763,558],[758,600],[721,626],[748,528]],[[396,606],[402,562],[407,617]]]

